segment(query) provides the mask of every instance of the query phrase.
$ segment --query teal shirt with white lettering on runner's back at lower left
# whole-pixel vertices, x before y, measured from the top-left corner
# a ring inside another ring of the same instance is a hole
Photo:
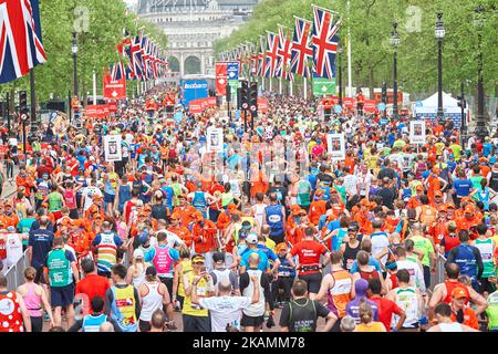
[[[62,288],[73,282],[71,262],[75,262],[73,253],[62,248],[53,249],[46,257],[50,287]]]

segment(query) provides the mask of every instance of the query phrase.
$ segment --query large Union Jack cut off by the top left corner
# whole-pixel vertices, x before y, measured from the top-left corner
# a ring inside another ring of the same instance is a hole
[[[0,83],[44,62],[38,0],[0,0]]]

